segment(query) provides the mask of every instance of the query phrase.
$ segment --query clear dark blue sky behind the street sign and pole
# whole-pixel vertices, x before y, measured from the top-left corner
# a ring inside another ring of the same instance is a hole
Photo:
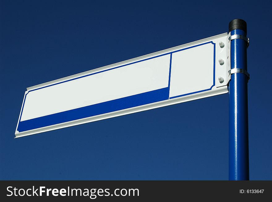
[[[233,7],[232,7],[233,6]],[[228,94],[14,139],[26,87],[248,23],[250,179],[272,180],[271,3],[0,2],[0,179],[227,180]]]

